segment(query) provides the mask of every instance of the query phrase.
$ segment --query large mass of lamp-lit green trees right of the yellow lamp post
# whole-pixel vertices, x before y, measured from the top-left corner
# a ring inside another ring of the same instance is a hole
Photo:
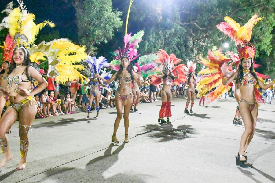
[[[257,71],[274,76],[274,7],[274,0],[140,0],[132,5],[128,30],[137,29],[136,25],[145,30],[139,49],[141,55],[164,49],[167,53],[175,53],[186,63],[187,60],[196,60],[200,54],[207,56],[212,46],[222,47],[225,42],[230,47],[223,48],[223,51],[236,53],[234,42],[215,26],[225,16],[244,25],[258,13],[265,19],[254,27],[251,39],[256,47],[256,61],[262,64]],[[197,70],[200,70],[200,64]]]

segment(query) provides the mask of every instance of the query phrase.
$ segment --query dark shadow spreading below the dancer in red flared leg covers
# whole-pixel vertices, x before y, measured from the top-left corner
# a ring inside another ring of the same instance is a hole
[[[173,128],[172,123],[160,125],[145,125],[145,129],[149,131],[137,135],[147,134],[153,139],[158,139],[159,142],[167,142],[173,139],[182,140],[191,137],[190,134],[195,134],[191,125],[180,125],[178,128]]]

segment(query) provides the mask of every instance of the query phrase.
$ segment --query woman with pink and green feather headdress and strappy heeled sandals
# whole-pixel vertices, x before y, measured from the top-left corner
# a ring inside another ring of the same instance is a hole
[[[120,120],[124,119],[124,127],[125,127],[125,135],[124,135],[124,142],[129,142],[128,137],[128,128],[129,128],[129,112],[130,108],[133,104],[133,93],[131,88],[131,82],[132,80],[135,80],[138,85],[141,85],[140,81],[140,75],[138,73],[135,74],[133,71],[133,65],[131,61],[135,60],[138,55],[138,43],[141,41],[141,38],[143,36],[144,32],[140,31],[137,34],[135,34],[133,37],[131,34],[127,34],[123,41],[126,46],[123,46],[123,48],[119,48],[116,50],[116,56],[113,57],[115,60],[113,60],[110,63],[110,66],[113,70],[117,70],[117,72],[109,79],[106,80],[104,77],[100,76],[99,74],[94,74],[96,78],[101,79],[106,84],[111,83],[116,78],[119,79],[119,87],[116,91],[116,110],[117,110],[117,117],[114,124],[114,132],[112,135],[112,142],[119,143],[116,132],[119,127]],[[124,113],[122,112],[122,106],[124,104]]]

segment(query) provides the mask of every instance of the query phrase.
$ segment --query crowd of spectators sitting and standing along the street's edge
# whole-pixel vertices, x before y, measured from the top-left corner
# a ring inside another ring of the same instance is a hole
[[[89,103],[90,87],[83,86],[87,81],[67,81],[64,84],[57,83],[54,79],[47,78],[48,87],[35,96],[38,118],[53,117],[75,113],[75,111],[86,112]],[[80,84],[81,83],[81,84]],[[111,87],[101,87],[100,109],[116,107],[115,94],[118,89],[118,79],[112,82]],[[174,97],[186,95],[186,89],[172,84]],[[150,84],[150,78],[146,79],[140,89],[139,103],[150,103],[158,101],[162,85]],[[77,109],[79,108],[79,109]],[[92,102],[92,110],[95,110],[95,100]]]

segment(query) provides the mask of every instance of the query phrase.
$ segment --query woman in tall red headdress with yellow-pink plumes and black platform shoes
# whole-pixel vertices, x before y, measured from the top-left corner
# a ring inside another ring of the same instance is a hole
[[[241,93],[238,103],[245,130],[241,136],[240,149],[236,156],[236,164],[240,167],[251,166],[247,162],[248,157],[246,156],[246,149],[248,148],[255,131],[258,116],[257,103],[258,101],[263,101],[260,97],[257,85],[263,89],[267,89],[275,83],[275,80],[273,80],[273,82],[264,84],[260,79],[258,79],[254,72],[253,59],[255,56],[255,46],[249,41],[251,39],[253,26],[262,19],[263,18],[258,18],[258,15],[255,14],[248,23],[241,27],[240,24],[236,23],[230,17],[225,17],[224,20],[226,23],[222,22],[216,26],[219,30],[235,41],[240,58],[238,72],[233,73],[229,78],[227,77],[227,70],[222,68],[224,75],[222,83],[226,85],[231,81],[236,80]]]

